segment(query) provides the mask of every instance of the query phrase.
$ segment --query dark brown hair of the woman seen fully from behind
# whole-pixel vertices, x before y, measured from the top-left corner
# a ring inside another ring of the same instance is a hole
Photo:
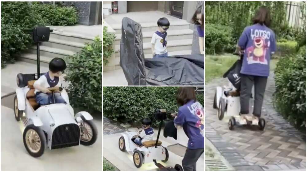
[[[252,18],[253,24],[264,24],[266,27],[270,27],[271,25],[271,14],[270,10],[266,7],[262,6],[257,9],[255,16]]]

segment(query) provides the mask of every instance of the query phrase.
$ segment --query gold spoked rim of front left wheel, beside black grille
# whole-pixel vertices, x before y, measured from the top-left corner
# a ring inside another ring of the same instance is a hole
[[[41,139],[38,135],[38,133],[33,130],[29,129],[27,133],[25,134],[26,136],[26,144],[29,150],[33,153],[37,153],[41,149]]]

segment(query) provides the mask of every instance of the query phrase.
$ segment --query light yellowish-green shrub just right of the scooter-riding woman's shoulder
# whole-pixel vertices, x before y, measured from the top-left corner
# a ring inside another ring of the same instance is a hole
[[[277,52],[276,55],[284,57],[286,55],[294,54],[297,52],[297,42],[281,39],[276,43]]]

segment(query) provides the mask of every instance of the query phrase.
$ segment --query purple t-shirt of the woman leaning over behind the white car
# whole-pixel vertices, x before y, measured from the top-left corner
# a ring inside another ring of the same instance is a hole
[[[174,123],[183,126],[189,149],[204,148],[204,107],[199,102],[191,100],[179,107]]]

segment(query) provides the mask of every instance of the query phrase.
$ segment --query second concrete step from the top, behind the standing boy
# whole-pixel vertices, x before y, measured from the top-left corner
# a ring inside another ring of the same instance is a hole
[[[153,32],[144,32],[143,31],[143,43],[150,42],[154,32],[155,31],[153,31]],[[115,36],[116,36],[115,45],[119,45],[122,34],[121,33],[116,34]],[[193,38],[193,30],[191,30],[191,29],[170,30],[170,31],[167,31],[167,37],[168,37],[168,40],[192,39]]]

